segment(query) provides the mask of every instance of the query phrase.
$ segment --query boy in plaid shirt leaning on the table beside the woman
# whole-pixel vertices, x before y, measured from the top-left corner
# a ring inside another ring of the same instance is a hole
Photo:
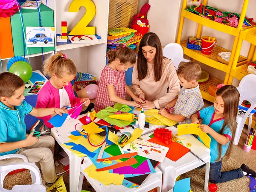
[[[177,121],[179,125],[190,124],[192,114],[204,108],[204,101],[198,85],[201,68],[198,64],[189,61],[178,67],[177,75],[182,86],[178,98],[160,109],[159,114]],[[173,107],[173,113],[169,113],[170,108]]]

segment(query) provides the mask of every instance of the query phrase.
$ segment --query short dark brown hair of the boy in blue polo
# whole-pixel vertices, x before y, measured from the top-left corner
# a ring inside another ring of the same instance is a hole
[[[0,98],[12,97],[15,91],[24,85],[24,81],[19,76],[9,72],[0,73]]]

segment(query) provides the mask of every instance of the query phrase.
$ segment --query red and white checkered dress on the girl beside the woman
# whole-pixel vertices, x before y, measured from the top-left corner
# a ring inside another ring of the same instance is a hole
[[[115,71],[108,65],[102,70],[99,79],[98,93],[95,99],[95,111],[98,112],[108,106],[114,106],[115,102],[111,101],[108,94],[108,84],[113,84],[116,96],[126,99],[125,71]]]

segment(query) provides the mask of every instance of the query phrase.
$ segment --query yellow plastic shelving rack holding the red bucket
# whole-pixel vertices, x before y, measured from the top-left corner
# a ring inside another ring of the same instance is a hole
[[[239,50],[239,52],[238,51],[236,52],[236,47],[237,47],[238,42],[239,42],[239,35],[240,35],[241,29],[242,30],[249,30],[250,28],[253,28],[253,27],[242,28],[245,13],[246,13],[247,6],[248,6],[248,2],[249,2],[249,0],[244,0],[243,7],[241,9],[241,17],[239,19],[238,27],[234,28],[232,26],[227,26],[227,25],[215,22],[213,20],[209,20],[207,18],[201,17],[199,15],[196,15],[194,13],[191,13],[191,12],[187,11],[186,10],[187,0],[183,1],[181,13],[180,13],[180,25],[179,25],[179,29],[178,29],[177,43],[182,46],[183,52],[184,52],[185,55],[188,55],[189,57],[191,57],[191,58],[193,58],[193,59],[195,59],[195,60],[197,60],[197,61],[199,61],[203,64],[206,64],[210,67],[213,67],[215,69],[218,69],[218,70],[221,70],[221,71],[225,72],[226,75],[225,75],[225,79],[224,79],[224,84],[228,84],[228,82],[230,82],[231,79],[232,79],[232,78],[230,78],[231,69],[233,69],[233,68],[241,69],[242,68],[241,70],[244,70],[243,67],[248,63],[248,60],[252,59],[252,57],[253,57],[254,46],[250,47],[249,54],[248,54],[247,58],[239,55],[240,50]],[[204,0],[203,4],[207,5],[207,0]],[[187,48],[186,41],[181,41],[183,23],[184,23],[185,18],[198,23],[196,38],[201,38],[202,26],[207,26],[211,29],[215,29],[215,30],[218,30],[220,32],[224,32],[224,33],[235,36],[235,40],[233,42],[233,48],[231,50],[230,61],[229,61],[228,64],[223,64],[223,63],[221,63],[217,60],[218,53],[220,53],[220,52],[230,52],[229,50],[224,49],[222,47],[216,46],[216,48],[212,51],[212,53],[210,55],[204,55],[204,54],[201,53],[201,51]],[[236,65],[234,65],[235,56],[236,56]],[[239,62],[239,63],[237,64],[237,62]],[[229,79],[230,79],[230,81],[229,81]],[[208,87],[209,87],[209,85],[220,84],[220,83],[222,83],[222,81],[220,81],[218,79],[215,79],[215,78],[212,78],[212,77],[210,77],[210,80],[212,82],[211,84],[209,84],[209,83],[208,84],[200,84],[199,87],[200,87],[201,94],[202,94],[203,98],[210,101],[210,102],[214,102],[215,97],[211,96],[208,93]]]

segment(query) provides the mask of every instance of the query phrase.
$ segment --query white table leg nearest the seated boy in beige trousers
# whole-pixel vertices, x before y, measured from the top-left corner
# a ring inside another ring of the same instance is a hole
[[[70,154],[70,192],[77,192],[80,178],[81,157]]]

